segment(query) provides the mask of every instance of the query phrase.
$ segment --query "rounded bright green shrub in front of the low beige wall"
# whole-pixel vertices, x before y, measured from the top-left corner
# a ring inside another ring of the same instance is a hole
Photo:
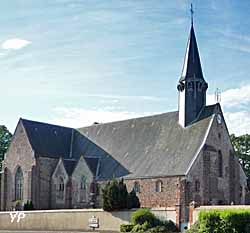
[[[148,222],[151,226],[154,226],[156,217],[149,209],[139,209],[131,214],[131,223],[134,225],[142,225]]]

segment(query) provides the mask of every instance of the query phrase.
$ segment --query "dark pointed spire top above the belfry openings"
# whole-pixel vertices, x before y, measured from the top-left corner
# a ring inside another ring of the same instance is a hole
[[[188,79],[203,79],[199,50],[194,33],[194,26],[191,25],[190,34],[187,43],[185,60],[182,68],[180,82]]]

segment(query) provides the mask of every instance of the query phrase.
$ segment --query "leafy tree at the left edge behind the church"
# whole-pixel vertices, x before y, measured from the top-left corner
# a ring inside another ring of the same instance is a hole
[[[9,132],[6,126],[0,125],[0,168],[2,168],[4,154],[10,145],[11,138],[12,134]]]

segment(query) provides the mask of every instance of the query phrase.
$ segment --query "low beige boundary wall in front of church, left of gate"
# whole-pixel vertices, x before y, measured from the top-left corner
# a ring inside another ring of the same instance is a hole
[[[102,209],[72,209],[72,210],[35,210],[24,211],[24,218],[16,215],[11,222],[11,214],[15,212],[0,212],[1,230],[47,230],[47,231],[82,231],[90,230],[89,219],[95,216],[99,219],[100,231],[119,232],[120,225],[129,223],[130,215],[135,210],[106,212]],[[154,208],[152,212],[161,219],[176,221],[175,208]],[[18,212],[22,213],[22,212]],[[98,231],[97,230],[97,231]]]

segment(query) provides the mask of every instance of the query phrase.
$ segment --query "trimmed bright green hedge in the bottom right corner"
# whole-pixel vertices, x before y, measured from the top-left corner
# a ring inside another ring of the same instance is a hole
[[[249,233],[250,210],[213,210],[199,213],[197,233]]]

